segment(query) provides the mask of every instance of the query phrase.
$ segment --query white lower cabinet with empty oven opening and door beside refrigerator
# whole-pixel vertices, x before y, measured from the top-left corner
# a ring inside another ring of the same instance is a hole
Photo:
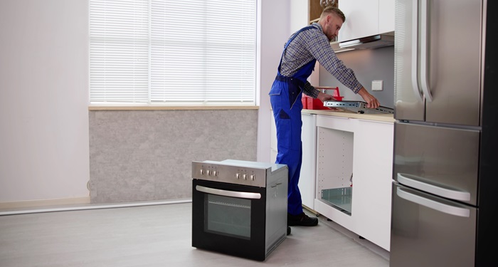
[[[393,122],[317,115],[314,210],[389,251],[392,157]]]

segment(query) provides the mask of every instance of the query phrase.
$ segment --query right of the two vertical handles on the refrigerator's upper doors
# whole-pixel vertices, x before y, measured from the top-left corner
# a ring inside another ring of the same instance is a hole
[[[428,61],[429,61],[429,25],[430,25],[430,10],[428,0],[421,0],[420,3],[420,83],[425,95],[425,100],[433,102],[433,95],[430,93],[429,80],[428,80]]]

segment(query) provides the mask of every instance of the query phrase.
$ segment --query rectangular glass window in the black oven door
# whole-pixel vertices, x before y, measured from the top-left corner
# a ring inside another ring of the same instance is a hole
[[[250,199],[206,194],[204,231],[250,239]]]

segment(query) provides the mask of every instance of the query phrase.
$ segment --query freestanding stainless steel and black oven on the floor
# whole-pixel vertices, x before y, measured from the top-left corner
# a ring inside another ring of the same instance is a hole
[[[192,162],[192,246],[265,261],[287,236],[287,165]]]

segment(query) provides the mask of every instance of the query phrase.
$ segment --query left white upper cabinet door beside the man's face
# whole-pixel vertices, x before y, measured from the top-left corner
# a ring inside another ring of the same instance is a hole
[[[339,9],[346,16],[339,31],[339,41],[378,34],[378,0],[339,1]]]

